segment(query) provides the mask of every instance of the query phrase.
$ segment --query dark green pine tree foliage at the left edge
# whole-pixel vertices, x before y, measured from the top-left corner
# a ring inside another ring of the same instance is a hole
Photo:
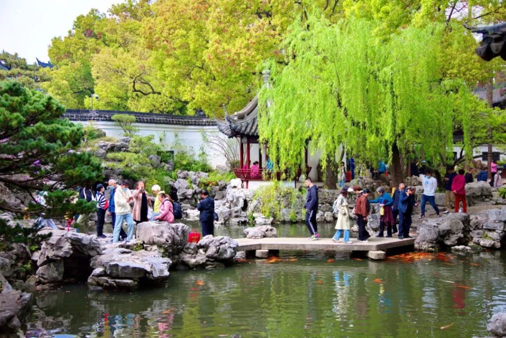
[[[31,203],[24,210],[0,203],[0,211],[57,218],[95,210],[86,201],[70,203],[74,189],[100,179],[103,169],[91,154],[74,152],[84,134],[81,125],[61,119],[64,111],[49,95],[0,82],[0,183],[33,198],[38,191],[47,193],[46,205]]]

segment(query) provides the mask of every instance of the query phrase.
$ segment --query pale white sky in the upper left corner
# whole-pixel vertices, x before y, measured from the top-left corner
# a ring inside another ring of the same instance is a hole
[[[54,36],[64,36],[74,19],[92,8],[106,13],[121,0],[0,0],[0,50],[28,63],[47,62]]]

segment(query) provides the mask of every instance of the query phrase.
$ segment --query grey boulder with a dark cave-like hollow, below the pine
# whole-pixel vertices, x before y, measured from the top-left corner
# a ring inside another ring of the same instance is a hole
[[[61,282],[64,275],[72,280],[86,280],[91,272],[90,259],[102,253],[97,239],[94,236],[64,230],[39,232],[48,233],[52,236],[44,241],[36,255],[37,282]]]

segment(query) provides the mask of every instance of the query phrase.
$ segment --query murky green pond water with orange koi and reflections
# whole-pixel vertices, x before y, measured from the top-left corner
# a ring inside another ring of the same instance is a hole
[[[217,233],[237,237],[241,229]],[[279,233],[307,236],[298,224]],[[174,271],[164,287],[135,292],[90,291],[86,284],[38,292],[26,336],[472,337],[486,336],[487,320],[506,312],[506,252],[278,258]]]

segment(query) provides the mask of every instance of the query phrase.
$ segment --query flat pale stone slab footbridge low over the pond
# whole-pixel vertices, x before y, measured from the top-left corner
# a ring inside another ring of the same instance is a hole
[[[309,250],[309,251],[375,251],[387,250],[402,246],[410,246],[414,243],[414,238],[400,240],[394,238],[376,238],[368,239],[369,243],[361,243],[356,238],[352,238],[353,244],[345,244],[343,242],[335,243],[330,238],[319,238],[317,241],[311,241],[307,238],[299,237],[278,237],[278,238],[262,238],[249,239],[238,238],[239,243],[237,251],[249,250]]]

